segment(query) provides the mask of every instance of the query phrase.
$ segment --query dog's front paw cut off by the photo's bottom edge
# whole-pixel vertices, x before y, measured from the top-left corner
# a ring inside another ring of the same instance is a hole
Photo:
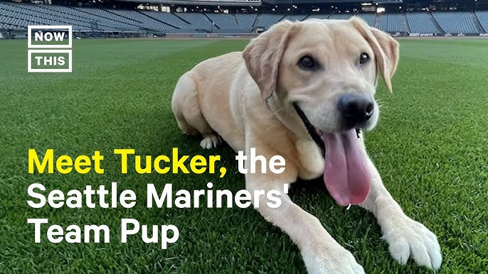
[[[303,254],[309,274],[364,274],[363,267],[339,244],[312,254]]]

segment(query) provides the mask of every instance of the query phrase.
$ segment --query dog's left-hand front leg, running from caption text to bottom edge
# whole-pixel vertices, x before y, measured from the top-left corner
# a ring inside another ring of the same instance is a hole
[[[257,168],[259,170],[259,168]],[[287,165],[287,170],[289,166]],[[285,175],[289,180],[296,176]],[[288,183],[283,176],[274,174],[246,174],[246,188],[254,195],[254,191],[265,193],[270,190],[280,192],[281,205],[275,209],[268,207],[269,200],[261,195],[258,211],[267,221],[278,226],[288,234],[299,247],[308,273],[358,274],[364,273],[361,265],[356,263],[354,256],[337,243],[327,233],[319,219],[305,212],[283,192],[283,185]]]

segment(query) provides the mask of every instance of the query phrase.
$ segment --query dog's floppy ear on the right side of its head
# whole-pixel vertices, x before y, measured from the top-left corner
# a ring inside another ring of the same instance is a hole
[[[381,72],[381,76],[385,81],[386,87],[391,92],[391,78],[395,74],[398,65],[398,42],[393,39],[388,33],[368,26],[368,24],[360,18],[353,17],[351,22],[354,27],[363,35],[368,41],[371,48],[373,48],[376,57],[376,65]]]

